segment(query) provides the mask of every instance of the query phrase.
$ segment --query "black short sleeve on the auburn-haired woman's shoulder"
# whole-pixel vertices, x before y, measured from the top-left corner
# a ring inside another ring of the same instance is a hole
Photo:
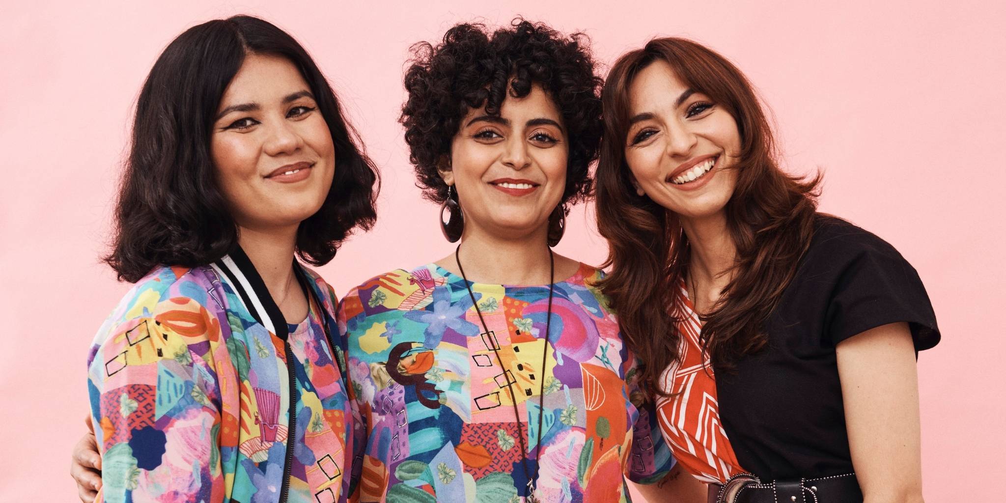
[[[914,268],[890,244],[861,233],[850,239],[849,254],[838,275],[826,315],[826,336],[833,345],[872,328],[906,322],[915,350],[940,342],[936,314]]]

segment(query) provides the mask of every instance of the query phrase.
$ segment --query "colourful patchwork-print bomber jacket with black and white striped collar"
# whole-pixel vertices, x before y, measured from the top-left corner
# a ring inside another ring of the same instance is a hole
[[[344,348],[327,336],[338,334],[335,297],[297,269],[311,308],[294,327],[239,249],[155,270],[127,294],[89,358],[104,501],[346,500],[352,422]]]

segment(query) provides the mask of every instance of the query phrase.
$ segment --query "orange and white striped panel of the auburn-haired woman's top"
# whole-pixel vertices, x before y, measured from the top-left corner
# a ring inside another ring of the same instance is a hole
[[[657,398],[660,432],[685,470],[703,482],[722,483],[743,470],[719,422],[716,380],[699,342],[702,324],[683,286],[678,295],[684,306],[679,357],[660,376],[661,389],[673,393]]]

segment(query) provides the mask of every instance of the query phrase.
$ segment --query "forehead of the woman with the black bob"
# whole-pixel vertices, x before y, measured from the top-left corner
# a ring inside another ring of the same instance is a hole
[[[286,57],[272,54],[248,54],[223,92],[220,106],[228,104],[282,100],[298,91],[310,91],[300,70]]]

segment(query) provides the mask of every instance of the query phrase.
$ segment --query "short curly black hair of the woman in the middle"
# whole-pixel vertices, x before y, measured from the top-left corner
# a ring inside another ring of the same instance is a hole
[[[543,23],[514,19],[490,34],[484,24],[457,24],[434,46],[411,47],[405,72],[408,100],[399,122],[405,127],[416,186],[434,202],[444,202],[448,187],[437,173],[441,159],[471,109],[499,115],[507,94],[523,98],[538,83],[555,102],[569,136],[566,186],[561,205],[591,194],[590,166],[598,158],[603,125],[601,89],[590,38],[563,35]]]

